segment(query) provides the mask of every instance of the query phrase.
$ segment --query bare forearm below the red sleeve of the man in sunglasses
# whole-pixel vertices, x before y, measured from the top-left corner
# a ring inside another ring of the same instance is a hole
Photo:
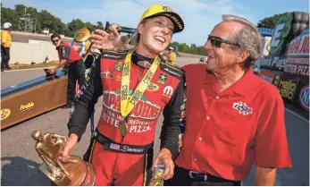
[[[256,186],[273,186],[276,175],[276,168],[265,168],[256,166]]]

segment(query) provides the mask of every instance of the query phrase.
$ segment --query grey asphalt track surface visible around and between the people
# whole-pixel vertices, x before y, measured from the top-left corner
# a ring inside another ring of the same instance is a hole
[[[178,58],[177,64],[189,64],[198,62],[193,58]],[[28,81],[44,75],[43,70],[28,70],[19,72],[2,72],[1,88],[12,86],[21,81]],[[95,122],[99,120],[102,108],[102,98],[96,104]],[[39,115],[26,122],[14,125],[1,132],[1,185],[51,185],[44,174],[38,171],[38,165],[42,160],[35,150],[35,141],[30,134],[34,130],[40,132],[55,132],[67,135],[70,109],[55,109],[49,113]],[[286,129],[289,139],[290,156],[293,160],[293,168],[279,169],[276,185],[309,185],[309,124],[294,113],[285,111]],[[163,117],[159,119],[155,134],[155,153],[158,152],[159,132]],[[73,154],[82,157],[88,148],[90,139],[90,127],[83,135],[78,147]],[[243,183],[254,185],[254,170]]]

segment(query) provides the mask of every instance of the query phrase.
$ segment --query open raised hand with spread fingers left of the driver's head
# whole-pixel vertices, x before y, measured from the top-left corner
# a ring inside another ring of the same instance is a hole
[[[95,30],[95,34],[91,38],[91,42],[94,43],[94,48],[99,50],[120,48],[123,43],[121,42],[121,35],[117,30],[117,25],[110,26],[112,33],[108,33],[105,30]]]

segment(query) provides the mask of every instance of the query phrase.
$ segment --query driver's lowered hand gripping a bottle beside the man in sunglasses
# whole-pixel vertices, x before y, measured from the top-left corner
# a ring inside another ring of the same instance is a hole
[[[162,178],[164,180],[171,179],[174,173],[174,164],[172,160],[172,153],[169,149],[161,149],[158,156],[155,158],[155,161],[152,166],[152,171],[154,172],[154,167],[158,164],[164,165],[164,172]]]

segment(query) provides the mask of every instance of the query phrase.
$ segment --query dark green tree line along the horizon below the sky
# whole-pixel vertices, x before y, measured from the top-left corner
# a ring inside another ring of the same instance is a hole
[[[75,31],[81,27],[87,27],[90,30],[105,29],[101,21],[92,24],[89,21],[83,22],[80,19],[73,19],[65,24],[60,18],[54,16],[52,13],[48,13],[46,10],[38,12],[36,8],[27,7],[23,4],[16,4],[14,9],[1,7],[1,21],[3,23],[11,22],[13,24],[13,29],[18,30],[20,18],[25,16],[25,12],[29,13],[30,18],[37,20],[37,33],[42,33],[43,30],[48,29],[50,33],[60,33],[68,37],[73,37]],[[276,14],[272,17],[264,18],[262,21],[258,22],[257,26],[273,29],[280,16],[281,14]],[[126,36],[123,36],[122,39],[126,40]],[[206,55],[204,47],[197,47],[195,44],[189,46],[186,43],[172,42],[170,46],[178,47],[179,51],[183,53]]]

